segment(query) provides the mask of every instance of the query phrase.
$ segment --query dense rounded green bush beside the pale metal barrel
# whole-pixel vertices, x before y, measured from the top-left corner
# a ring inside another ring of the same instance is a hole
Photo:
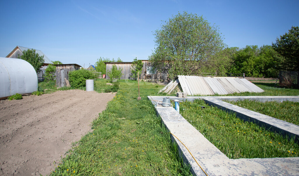
[[[86,79],[96,79],[97,76],[89,70],[75,70],[68,74],[68,80],[73,88],[85,87]]]

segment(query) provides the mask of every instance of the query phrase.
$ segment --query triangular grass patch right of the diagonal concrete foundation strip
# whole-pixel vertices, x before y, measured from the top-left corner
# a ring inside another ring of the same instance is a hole
[[[251,100],[226,101],[228,103],[249,109],[270,117],[299,125],[299,102],[259,102]]]

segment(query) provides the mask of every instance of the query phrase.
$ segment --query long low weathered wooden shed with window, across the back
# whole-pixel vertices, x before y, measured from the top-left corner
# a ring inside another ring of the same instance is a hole
[[[150,62],[148,60],[142,60],[143,67],[141,70],[141,78],[144,80],[166,80],[168,69],[164,69],[162,72],[158,72],[153,70]],[[132,70],[132,62],[105,62],[106,64],[106,79],[110,79],[107,76],[107,73],[112,69],[112,65],[116,65],[118,69],[123,69],[121,73],[123,74],[120,79],[133,79],[131,70]]]

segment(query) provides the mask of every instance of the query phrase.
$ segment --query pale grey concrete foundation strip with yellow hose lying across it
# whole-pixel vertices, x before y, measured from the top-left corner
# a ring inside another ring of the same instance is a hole
[[[149,96],[148,98],[149,100],[163,100],[164,97]],[[223,99],[237,101],[245,98],[262,102],[281,102],[286,100],[299,102],[299,96],[221,96],[187,98],[178,98],[173,96],[170,98],[172,100],[176,99],[181,101],[203,99],[205,101],[213,102],[215,103],[215,105],[218,105],[219,102],[222,102],[221,100]],[[225,105],[225,107],[227,107],[227,105]],[[231,108],[234,109],[236,107],[232,106]],[[197,131],[196,128],[188,123],[187,120],[185,120],[184,117],[182,117],[174,108],[156,106],[155,110],[157,112],[157,115],[161,117],[161,121],[165,125],[165,127],[172,134],[176,135],[182,143],[185,144],[185,146],[193,154],[194,158],[198,161],[200,166],[202,166],[202,169],[205,170],[208,175],[298,175],[299,173],[299,157],[229,159],[212,143],[210,143],[199,131]],[[272,121],[273,119],[268,119],[268,121],[269,120]],[[285,123],[287,124],[287,122]],[[292,124],[291,126],[289,126],[289,128],[292,129],[283,130],[286,130],[286,132],[289,134],[295,134],[297,136],[299,134],[297,127]],[[277,128],[280,127],[277,126]],[[171,136],[171,139],[177,143],[179,154],[183,158],[184,162],[191,166],[190,171],[192,172],[192,174],[205,175],[205,173],[196,164],[191,154],[180,143],[180,141],[173,136]]]

